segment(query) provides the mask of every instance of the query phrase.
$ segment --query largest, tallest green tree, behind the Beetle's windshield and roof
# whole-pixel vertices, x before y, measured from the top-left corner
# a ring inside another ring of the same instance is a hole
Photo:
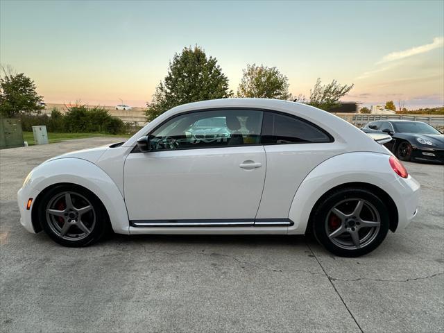
[[[216,58],[207,58],[197,45],[185,47],[169,62],[167,76],[155,89],[151,103],[147,103],[146,119],[152,121],[180,104],[230,96],[228,78],[217,65]]]

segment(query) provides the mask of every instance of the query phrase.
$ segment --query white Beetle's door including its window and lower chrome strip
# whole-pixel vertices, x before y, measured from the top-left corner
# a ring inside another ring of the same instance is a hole
[[[187,112],[153,130],[151,151],[130,153],[123,170],[131,224],[253,225],[266,172],[262,116],[243,109]]]

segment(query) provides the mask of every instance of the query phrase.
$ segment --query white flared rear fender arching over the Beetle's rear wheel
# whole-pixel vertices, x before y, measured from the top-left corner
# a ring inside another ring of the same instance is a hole
[[[289,227],[288,233],[304,234],[316,201],[330,189],[349,182],[366,182],[386,191],[398,210],[401,206],[400,218],[404,218],[399,190],[402,181],[391,169],[389,157],[382,153],[355,152],[336,155],[319,164],[296,191],[289,211],[289,219],[294,225]]]

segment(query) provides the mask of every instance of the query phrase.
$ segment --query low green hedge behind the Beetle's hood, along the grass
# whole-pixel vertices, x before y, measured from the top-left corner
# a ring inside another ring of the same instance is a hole
[[[121,119],[112,117],[105,108],[87,105],[75,105],[67,108],[62,114],[54,108],[51,117],[46,114],[22,115],[22,128],[33,130],[33,126],[46,126],[48,132],[59,133],[107,133],[124,134],[128,132]]]

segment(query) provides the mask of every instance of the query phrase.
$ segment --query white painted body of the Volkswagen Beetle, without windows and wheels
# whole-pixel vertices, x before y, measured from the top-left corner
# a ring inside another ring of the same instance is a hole
[[[132,153],[137,139],[178,114],[237,108],[305,119],[328,143],[270,144]],[[33,205],[51,185],[72,183],[103,203],[120,234],[304,234],[317,200],[330,189],[365,183],[393,200],[404,228],[415,216],[420,185],[393,172],[392,154],[359,128],[309,105],[271,99],[221,99],[173,108],[121,146],[67,153],[31,171],[18,192],[21,222],[39,231]],[[239,167],[253,161],[253,169]],[[26,209],[28,198],[32,205]]]

